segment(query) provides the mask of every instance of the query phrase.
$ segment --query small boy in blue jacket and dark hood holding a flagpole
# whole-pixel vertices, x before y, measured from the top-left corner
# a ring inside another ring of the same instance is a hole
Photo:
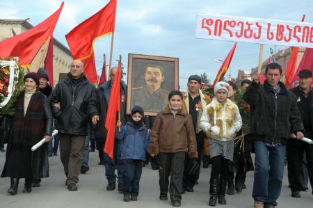
[[[122,126],[117,122],[116,138],[121,140],[121,159],[123,163],[124,201],[136,201],[139,193],[139,181],[145,161],[145,152],[149,144],[149,133],[143,124],[144,113],[141,106],[131,109],[131,121]],[[130,198],[129,198],[130,195]]]

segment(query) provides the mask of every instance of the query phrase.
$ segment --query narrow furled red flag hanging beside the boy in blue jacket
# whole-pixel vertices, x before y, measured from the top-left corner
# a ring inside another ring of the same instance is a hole
[[[106,113],[106,145],[104,146],[104,152],[113,159],[114,152],[114,138],[116,127],[116,116],[120,111],[120,61],[118,62],[118,70],[113,79],[111,88],[111,95],[109,99],[108,112]]]

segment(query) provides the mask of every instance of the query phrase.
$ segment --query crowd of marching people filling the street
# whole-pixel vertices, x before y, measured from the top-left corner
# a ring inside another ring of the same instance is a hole
[[[77,191],[79,173],[89,170],[90,136],[97,143],[99,164],[105,167],[106,190],[115,190],[118,181],[125,202],[138,200],[141,174],[148,159],[153,169],[159,169],[159,199],[168,200],[169,193],[173,207],[181,206],[185,191],[193,192],[202,157],[208,156],[209,206],[217,202],[226,205],[226,193],[246,189],[246,173],[253,170],[253,206],[277,206],[286,155],[291,196],[300,198],[300,191],[307,190],[301,170],[307,170],[306,177],[313,185],[313,146],[301,141],[304,136],[313,138],[310,70],[300,71],[299,86],[288,90],[280,81],[282,67],[269,63],[263,84],[259,73],[252,76],[252,81],[241,81],[240,89],[232,81],[220,81],[214,86],[213,98],[202,93],[201,77],[191,75],[188,90],[170,91],[168,104],[156,116],[145,115],[138,105],[127,115],[127,86],[121,81],[120,116],[111,158],[103,152],[108,133],[105,123],[118,69],[113,67],[111,79],[95,88],[83,74],[83,67],[81,61],[74,60],[67,78],[54,90],[45,69],[25,75],[25,90],[17,98],[15,115],[10,118],[11,131],[4,131],[8,136],[6,150],[0,144],[1,152],[6,151],[1,177],[10,177],[10,195],[17,194],[19,179],[25,179],[23,193],[30,193],[32,187],[40,186],[42,178],[49,177],[48,157],[58,154],[58,146],[67,189]],[[239,90],[244,90],[243,99],[250,105],[249,123],[243,123],[234,99]],[[243,135],[242,125],[250,126],[250,134]],[[53,129],[58,130],[54,140]],[[244,148],[235,142],[238,136],[243,137]],[[47,143],[32,152],[31,147],[42,137]],[[251,152],[255,152],[255,166]]]

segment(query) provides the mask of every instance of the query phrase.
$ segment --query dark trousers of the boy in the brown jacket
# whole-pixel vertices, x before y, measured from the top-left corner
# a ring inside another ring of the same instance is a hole
[[[160,195],[168,194],[170,184],[170,200],[182,200],[182,179],[184,174],[185,152],[173,152],[159,154],[159,185]],[[168,177],[170,176],[170,182]]]

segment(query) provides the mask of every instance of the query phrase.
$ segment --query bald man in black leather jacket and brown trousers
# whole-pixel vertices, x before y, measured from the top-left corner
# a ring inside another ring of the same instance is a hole
[[[90,113],[88,106],[95,86],[83,75],[83,63],[74,60],[67,78],[56,85],[51,96],[51,110],[58,120],[60,154],[67,189],[77,191],[85,137],[88,135]],[[56,107],[60,104],[60,108]]]

